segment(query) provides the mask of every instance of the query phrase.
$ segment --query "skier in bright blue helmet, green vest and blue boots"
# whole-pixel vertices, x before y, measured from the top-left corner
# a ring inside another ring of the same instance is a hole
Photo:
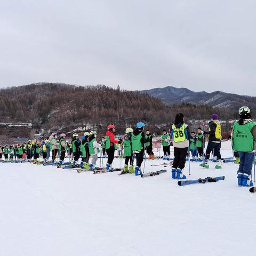
[[[139,122],[136,125],[135,131],[132,133],[132,150],[136,155],[135,175],[142,174],[140,167],[143,162],[144,144],[150,141],[150,138],[146,139],[145,137],[145,133],[143,132],[144,127],[145,124]]]

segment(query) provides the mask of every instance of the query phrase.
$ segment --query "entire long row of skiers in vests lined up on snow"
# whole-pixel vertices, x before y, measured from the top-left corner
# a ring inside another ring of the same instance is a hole
[[[241,119],[235,122],[231,132],[231,142],[235,155],[239,158],[238,186],[252,186],[251,171],[252,164],[255,159],[255,140],[256,140],[256,124],[251,120],[250,109],[242,107],[239,109],[239,116]],[[209,122],[209,131],[203,131],[198,127],[197,133],[194,131],[190,133],[189,126],[185,122],[185,117],[182,113],[175,116],[174,124],[170,132],[162,131],[161,142],[163,146],[163,159],[170,159],[170,146],[173,145],[174,159],[172,163],[172,179],[186,179],[183,170],[186,164],[186,158],[190,161],[203,161],[201,167],[209,169],[209,159],[212,156],[216,158],[217,165],[215,169],[221,169],[221,123],[217,114],[211,115]],[[61,133],[58,137],[56,132],[44,139],[42,142],[36,140],[29,140],[24,145],[14,145],[8,147],[0,147],[0,159],[4,156],[5,160],[22,159],[25,157],[28,161],[34,157],[37,161],[39,153],[42,154],[43,161],[46,162],[50,158],[50,151],[52,153],[52,163],[55,163],[57,155],[59,155],[59,165],[63,161],[68,152],[68,156],[73,154],[73,165],[78,165],[78,159],[82,157],[79,164],[82,168],[95,169],[98,154],[107,154],[108,160],[106,169],[113,170],[112,164],[115,156],[115,150],[118,148],[119,155],[125,157],[123,172],[135,173],[141,175],[141,165],[145,158],[145,150],[148,154],[148,159],[154,159],[153,153],[153,135],[149,130],[144,131],[145,124],[137,123],[135,130],[127,127],[123,138],[115,138],[115,126],[108,125],[105,137],[102,137],[100,143],[97,142],[97,131],[85,132],[81,139],[77,133],[73,134],[72,140],[66,141],[66,134]],[[204,153],[205,135],[209,135],[209,142]],[[191,158],[190,158],[191,153]],[[92,158],[89,164],[90,156]],[[134,158],[136,158],[136,165],[134,167]]]

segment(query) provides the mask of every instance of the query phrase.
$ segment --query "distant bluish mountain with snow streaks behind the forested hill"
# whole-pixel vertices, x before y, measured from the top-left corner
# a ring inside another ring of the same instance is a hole
[[[156,98],[161,99],[167,105],[173,105],[174,103],[193,103],[199,105],[210,105],[212,107],[229,107],[238,108],[241,106],[249,106],[256,110],[256,97],[250,97],[246,95],[237,95],[232,93],[226,93],[216,91],[212,93],[207,92],[193,92],[187,88],[176,88],[173,86],[167,86],[164,88],[154,88],[151,90],[140,91],[147,93]]]

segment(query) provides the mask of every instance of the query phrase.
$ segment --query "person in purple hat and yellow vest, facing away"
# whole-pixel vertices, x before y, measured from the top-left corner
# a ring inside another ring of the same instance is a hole
[[[221,146],[221,126],[219,121],[219,116],[217,114],[211,115],[211,120],[209,122],[209,132],[203,132],[204,134],[209,134],[209,142],[206,148],[205,160],[204,163],[200,164],[206,169],[209,169],[209,158],[211,152],[213,152],[213,157],[217,156],[217,165],[215,169],[222,169],[221,167],[221,155],[220,155],[220,146]]]

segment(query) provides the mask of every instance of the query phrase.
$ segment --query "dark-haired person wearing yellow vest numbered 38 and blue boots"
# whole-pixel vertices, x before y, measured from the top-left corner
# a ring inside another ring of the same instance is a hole
[[[190,132],[188,125],[184,122],[184,115],[182,113],[175,116],[171,138],[174,147],[172,179],[186,179],[187,177],[182,173],[182,170],[185,167],[186,156],[188,154]]]

